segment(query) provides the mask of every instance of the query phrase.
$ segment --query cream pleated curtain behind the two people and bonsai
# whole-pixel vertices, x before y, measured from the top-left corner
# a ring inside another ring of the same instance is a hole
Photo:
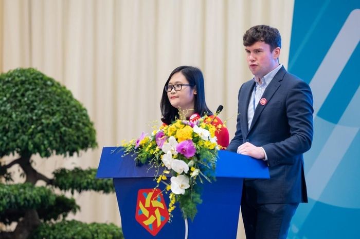
[[[200,67],[207,104],[235,133],[237,94],[251,77],[242,35],[267,24],[282,34],[287,67],[294,1],[289,0],[0,0],[0,70],[34,67],[65,85],[87,108],[99,148],[79,157],[36,157],[58,167],[97,167],[103,146],[149,131],[170,72]],[[76,194],[86,222],[120,225],[115,194]],[[244,238],[241,229],[238,238]]]

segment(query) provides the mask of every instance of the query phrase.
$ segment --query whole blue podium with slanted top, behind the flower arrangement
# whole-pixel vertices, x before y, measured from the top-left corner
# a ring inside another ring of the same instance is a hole
[[[243,178],[269,178],[267,166],[263,161],[220,150],[215,171],[217,180],[200,184],[203,186],[203,203],[197,206],[194,221],[184,220],[177,205],[172,212],[171,223],[166,223],[153,236],[149,233],[151,228],[146,229],[140,225],[135,215],[138,213],[138,191],[156,186],[155,169],[149,165],[136,166],[133,157],[112,153],[115,149],[103,148],[96,176],[113,178],[125,239],[183,239],[186,230],[189,239],[236,238]],[[165,185],[160,185],[160,190],[163,189]],[[169,197],[165,193],[164,200],[168,205]]]

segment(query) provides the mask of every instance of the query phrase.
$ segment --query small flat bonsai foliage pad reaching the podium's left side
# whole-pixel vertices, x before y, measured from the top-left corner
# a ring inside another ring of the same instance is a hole
[[[96,169],[74,168],[57,169],[54,174],[52,185],[61,190],[74,190],[81,192],[87,190],[102,191],[103,193],[114,192],[114,185],[111,179],[96,179]]]

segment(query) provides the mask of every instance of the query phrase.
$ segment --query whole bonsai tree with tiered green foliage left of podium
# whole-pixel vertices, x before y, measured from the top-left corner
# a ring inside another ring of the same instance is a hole
[[[2,238],[123,238],[113,224],[66,221],[80,207],[57,195],[95,190],[113,192],[111,180],[95,180],[96,169],[57,169],[48,178],[33,167],[31,156],[71,156],[95,148],[96,132],[86,109],[64,86],[38,70],[15,69],[0,75],[0,223],[16,222]],[[5,164],[3,157],[13,155]],[[14,165],[25,183],[13,182]],[[35,186],[44,181],[46,186]]]

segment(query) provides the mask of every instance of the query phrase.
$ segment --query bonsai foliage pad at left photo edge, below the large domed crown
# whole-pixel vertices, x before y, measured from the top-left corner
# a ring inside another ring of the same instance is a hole
[[[46,187],[34,187],[28,183],[0,184],[0,222],[9,224],[25,210],[46,208],[53,205],[55,200],[56,195]]]

